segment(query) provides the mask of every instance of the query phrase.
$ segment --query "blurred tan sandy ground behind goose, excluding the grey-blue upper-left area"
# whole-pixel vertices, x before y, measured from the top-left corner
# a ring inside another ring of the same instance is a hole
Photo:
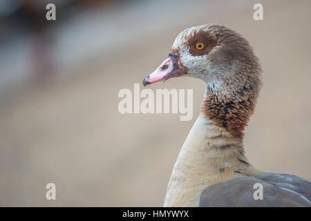
[[[265,3],[264,21],[254,21],[253,5],[202,13],[77,75],[23,90],[1,108],[0,205],[161,206],[205,85],[183,77],[149,86],[193,88],[189,122],[176,114],[121,115],[117,93],[133,91],[176,35],[200,23],[240,32],[261,59],[264,87],[245,135],[249,160],[263,171],[311,179],[311,1]],[[48,182],[57,186],[55,201],[45,198]]]

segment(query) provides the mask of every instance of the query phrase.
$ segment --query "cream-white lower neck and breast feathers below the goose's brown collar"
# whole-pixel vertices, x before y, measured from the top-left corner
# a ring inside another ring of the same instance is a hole
[[[237,175],[258,175],[243,142],[199,115],[182,145],[167,186],[164,206],[198,206],[207,187]]]

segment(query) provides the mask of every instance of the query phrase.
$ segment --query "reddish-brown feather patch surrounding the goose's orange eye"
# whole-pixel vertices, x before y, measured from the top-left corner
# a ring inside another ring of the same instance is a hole
[[[199,42],[205,45],[205,48],[202,50],[198,50],[196,48],[196,44]],[[211,49],[218,45],[216,39],[211,37],[211,35],[205,31],[196,32],[195,35],[189,37],[188,44],[190,46],[190,54],[192,56],[208,55]]]

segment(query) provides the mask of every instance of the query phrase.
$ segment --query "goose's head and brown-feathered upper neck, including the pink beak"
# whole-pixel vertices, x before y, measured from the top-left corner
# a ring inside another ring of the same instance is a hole
[[[201,112],[234,137],[243,137],[261,88],[261,66],[244,37],[218,24],[187,28],[143,84],[180,76],[205,81]]]

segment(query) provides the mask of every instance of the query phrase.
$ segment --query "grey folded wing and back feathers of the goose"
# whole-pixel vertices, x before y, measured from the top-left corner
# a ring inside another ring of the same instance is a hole
[[[254,184],[263,185],[263,200],[254,199]],[[301,177],[263,173],[239,176],[207,187],[200,206],[311,206],[311,182]]]

